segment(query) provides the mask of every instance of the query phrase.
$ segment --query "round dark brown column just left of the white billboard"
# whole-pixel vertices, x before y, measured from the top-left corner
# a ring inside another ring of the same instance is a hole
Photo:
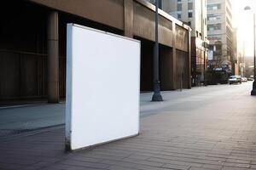
[[[48,102],[59,102],[59,19],[58,12],[51,11],[47,28],[47,88]]]

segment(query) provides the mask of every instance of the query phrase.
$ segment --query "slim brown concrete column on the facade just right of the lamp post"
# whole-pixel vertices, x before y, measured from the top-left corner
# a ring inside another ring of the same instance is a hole
[[[177,51],[176,51],[176,24],[172,21],[172,74],[171,74],[171,81],[172,81],[172,89],[177,89]]]

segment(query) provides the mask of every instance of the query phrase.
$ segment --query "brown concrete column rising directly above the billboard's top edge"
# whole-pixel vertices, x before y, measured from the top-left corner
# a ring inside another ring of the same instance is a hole
[[[133,37],[133,0],[124,0],[124,36]]]

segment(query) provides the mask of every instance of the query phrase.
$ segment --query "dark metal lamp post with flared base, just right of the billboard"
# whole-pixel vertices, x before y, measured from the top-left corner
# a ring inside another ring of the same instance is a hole
[[[159,0],[155,0],[155,43],[154,43],[154,94],[152,101],[163,101],[160,94],[159,78],[159,43],[158,43],[158,7]]]

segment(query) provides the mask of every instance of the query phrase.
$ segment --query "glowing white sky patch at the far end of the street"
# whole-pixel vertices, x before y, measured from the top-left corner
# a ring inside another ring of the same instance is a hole
[[[238,28],[238,47],[244,47],[246,56],[253,56],[253,12],[256,13],[256,0],[230,0],[233,8],[233,26]],[[251,11],[245,11],[246,6]],[[243,51],[243,50],[241,50]]]

